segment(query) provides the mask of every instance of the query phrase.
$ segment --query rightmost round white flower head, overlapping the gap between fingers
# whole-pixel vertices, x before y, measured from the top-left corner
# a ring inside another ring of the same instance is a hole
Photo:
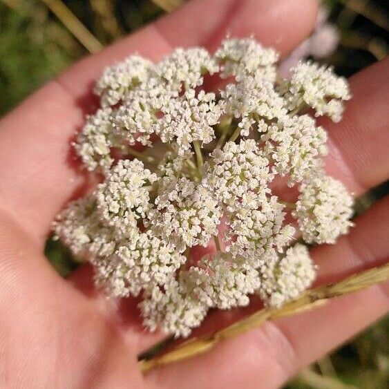
[[[293,212],[307,243],[335,243],[353,225],[352,197],[334,178],[320,175],[300,187]]]

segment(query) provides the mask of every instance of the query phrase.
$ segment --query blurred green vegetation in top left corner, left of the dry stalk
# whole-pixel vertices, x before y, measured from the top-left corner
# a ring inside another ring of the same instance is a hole
[[[0,1],[0,113],[71,64],[78,46],[38,1],[17,10]]]

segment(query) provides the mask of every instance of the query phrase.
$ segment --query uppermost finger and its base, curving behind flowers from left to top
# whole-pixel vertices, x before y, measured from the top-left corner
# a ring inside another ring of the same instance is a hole
[[[102,53],[80,61],[2,120],[3,204],[17,218],[23,218],[26,229],[42,242],[57,211],[69,198],[82,193],[86,178],[70,150],[70,140],[82,126],[85,111],[94,109],[91,87],[104,66],[135,52],[158,60],[175,44],[214,47],[227,32],[234,36],[254,33],[260,41],[285,53],[310,32],[316,7],[314,0],[191,1]]]

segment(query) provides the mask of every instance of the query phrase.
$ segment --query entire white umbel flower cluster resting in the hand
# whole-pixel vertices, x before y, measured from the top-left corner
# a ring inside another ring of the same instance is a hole
[[[339,120],[348,85],[311,63],[280,81],[277,61],[252,38],[225,39],[214,55],[129,57],[97,82],[101,108],[75,149],[102,182],[59,214],[55,232],[108,294],[142,297],[152,331],[188,336],[209,309],[252,294],[276,307],[296,298],[316,267],[295,237],[334,243],[352,225],[351,196],[323,173],[325,129],[307,114]],[[207,90],[209,75],[222,91]],[[295,202],[280,176],[298,187]],[[200,260],[196,246],[209,248]]]

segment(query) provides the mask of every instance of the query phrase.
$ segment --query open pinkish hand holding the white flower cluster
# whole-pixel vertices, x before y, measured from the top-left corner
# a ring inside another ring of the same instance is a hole
[[[137,353],[160,339],[144,332],[135,301],[93,289],[91,269],[60,278],[44,258],[50,222],[88,185],[70,141],[95,109],[91,86],[107,64],[138,52],[154,60],[174,46],[218,46],[229,32],[254,33],[281,53],[314,25],[311,0],[196,0],[88,57],[0,122],[0,386],[3,388],[274,388],[385,314],[388,285],[339,298],[314,312],[262,328],[143,377]],[[389,61],[352,78],[354,99],[330,134],[328,173],[355,196],[389,176]],[[90,180],[89,180],[90,181]],[[389,198],[359,217],[334,246],[314,249],[319,282],[389,257]],[[239,312],[214,314],[207,328]]]

